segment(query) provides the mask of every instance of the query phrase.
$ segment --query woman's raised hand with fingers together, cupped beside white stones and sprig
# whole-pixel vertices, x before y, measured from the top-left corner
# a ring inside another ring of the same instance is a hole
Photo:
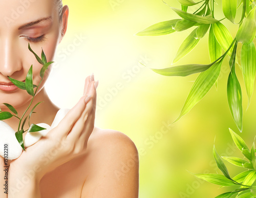
[[[86,78],[83,96],[47,136],[28,147],[10,164],[10,180],[25,173],[39,181],[47,172],[86,152],[88,139],[94,129],[96,90],[95,81]],[[89,101],[85,102],[89,97]]]

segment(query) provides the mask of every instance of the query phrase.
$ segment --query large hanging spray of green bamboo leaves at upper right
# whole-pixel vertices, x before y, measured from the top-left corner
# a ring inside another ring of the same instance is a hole
[[[256,50],[253,43],[256,34],[256,23],[254,19],[256,9],[254,5],[255,2],[251,0],[241,0],[240,4],[237,5],[237,0],[222,0],[222,10],[225,18],[216,19],[215,0],[203,0],[200,2],[194,2],[193,0],[177,1],[181,4],[181,10],[173,7],[170,8],[181,17],[180,19],[162,21],[136,34],[138,36],[159,36],[194,28],[181,43],[173,60],[173,63],[176,63],[193,50],[200,39],[209,31],[208,51],[211,63],[185,64],[164,69],[151,68],[152,71],[164,76],[188,76],[200,73],[191,87],[176,121],[187,114],[190,109],[208,93],[214,84],[217,88],[222,62],[226,55],[228,55],[230,66],[227,81],[228,105],[234,122],[239,130],[242,131],[242,91],[240,82],[236,76],[236,66],[238,64],[237,48],[238,43],[242,43],[240,69],[242,70],[245,82],[249,106],[256,74]],[[193,8],[195,5],[197,5],[199,9],[193,13],[189,13],[188,8]],[[237,10],[239,9],[242,9],[241,18],[239,23],[235,23]],[[234,25],[239,26],[236,37],[233,38],[229,30],[221,23],[224,19],[228,19]],[[222,51],[224,51],[224,53]]]

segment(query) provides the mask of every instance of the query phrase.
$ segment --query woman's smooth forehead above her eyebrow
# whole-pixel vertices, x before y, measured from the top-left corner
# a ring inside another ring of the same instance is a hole
[[[57,14],[55,0],[9,0],[1,1],[0,28],[15,28],[42,17]],[[56,16],[55,16],[56,17]]]

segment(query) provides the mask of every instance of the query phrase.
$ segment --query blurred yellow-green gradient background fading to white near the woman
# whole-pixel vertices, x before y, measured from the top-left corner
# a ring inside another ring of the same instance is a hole
[[[221,1],[217,2],[216,10],[222,13]],[[166,3],[180,8],[175,0]],[[68,31],[58,46],[57,63],[46,84],[53,102],[71,108],[82,95],[84,79],[94,73],[99,79],[96,125],[119,130],[135,142],[140,154],[140,198],[204,198],[227,191],[189,172],[220,173],[213,161],[214,143],[221,156],[242,157],[228,130],[230,127],[239,133],[227,103],[228,59],[222,65],[218,91],[212,87],[187,115],[167,128],[179,116],[198,75],[166,77],[149,68],[170,67],[182,41],[194,28],[165,36],[136,36],[150,25],[180,18],[161,0],[66,0],[63,4],[70,8]],[[234,37],[238,26],[227,20],[223,23]],[[238,53],[240,49],[241,45]],[[240,61],[240,55],[238,58]],[[188,63],[209,63],[208,33],[174,65]],[[246,111],[239,67],[237,74],[244,104],[243,133],[239,135],[250,147],[256,125],[255,94]],[[243,171],[225,164],[231,177]],[[123,173],[129,174],[129,167],[125,170]]]

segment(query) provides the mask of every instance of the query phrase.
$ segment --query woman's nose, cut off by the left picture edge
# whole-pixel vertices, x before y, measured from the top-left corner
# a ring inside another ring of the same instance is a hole
[[[15,42],[11,38],[0,40],[0,73],[2,75],[11,76],[16,71],[22,69],[17,48],[17,45],[15,46]]]

